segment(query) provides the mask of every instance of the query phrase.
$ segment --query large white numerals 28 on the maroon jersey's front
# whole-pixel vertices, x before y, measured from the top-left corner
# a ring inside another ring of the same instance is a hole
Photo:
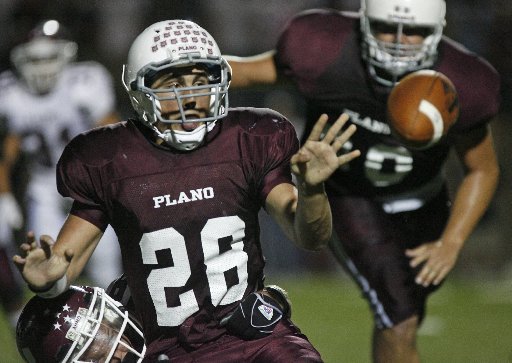
[[[243,250],[245,223],[236,216],[210,219],[201,231],[201,244],[213,305],[227,305],[242,299],[247,288],[248,255]],[[220,253],[219,241],[229,241],[231,248]],[[194,291],[179,295],[179,305],[169,307],[165,288],[185,286],[191,277],[190,260],[184,237],[169,227],[145,233],[140,241],[144,264],[157,264],[156,251],[168,249],[174,266],[154,269],[148,276],[148,288],[159,326],[178,326],[199,310]],[[238,283],[228,288],[224,273],[235,269]]]

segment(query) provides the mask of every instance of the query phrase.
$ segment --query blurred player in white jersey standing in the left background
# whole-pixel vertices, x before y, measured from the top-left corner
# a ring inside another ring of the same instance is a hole
[[[11,51],[12,70],[0,75],[0,117],[6,122],[0,181],[0,231],[10,236],[22,227],[25,205],[28,230],[56,234],[71,202],[55,186],[57,160],[66,143],[82,131],[118,120],[107,70],[96,62],[74,62],[77,44],[56,20],[42,22],[29,39]],[[20,161],[21,160],[21,161]],[[21,201],[13,197],[13,167],[24,164]],[[95,285],[106,287],[120,271],[117,239],[111,229],[88,266]],[[9,242],[12,243],[12,238]]]

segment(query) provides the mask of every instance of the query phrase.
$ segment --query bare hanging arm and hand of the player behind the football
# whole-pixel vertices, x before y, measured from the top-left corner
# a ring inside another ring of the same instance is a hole
[[[441,239],[407,251],[411,266],[425,262],[416,279],[424,286],[439,284],[453,269],[464,242],[487,210],[498,185],[499,166],[488,126],[460,137],[456,150],[465,173]]]

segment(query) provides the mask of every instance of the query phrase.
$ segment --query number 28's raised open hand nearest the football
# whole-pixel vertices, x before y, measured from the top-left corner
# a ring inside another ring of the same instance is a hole
[[[291,159],[292,172],[302,183],[317,186],[326,181],[341,165],[361,154],[359,150],[353,150],[337,155],[356,131],[355,125],[350,125],[339,134],[348,119],[346,114],[342,114],[322,138],[328,117],[323,114],[318,118],[305,144]]]

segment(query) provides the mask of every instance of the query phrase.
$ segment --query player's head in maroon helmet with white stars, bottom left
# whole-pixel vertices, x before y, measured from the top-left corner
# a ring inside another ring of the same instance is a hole
[[[141,362],[146,347],[138,322],[99,287],[70,286],[54,298],[32,297],[16,328],[29,363]]]

